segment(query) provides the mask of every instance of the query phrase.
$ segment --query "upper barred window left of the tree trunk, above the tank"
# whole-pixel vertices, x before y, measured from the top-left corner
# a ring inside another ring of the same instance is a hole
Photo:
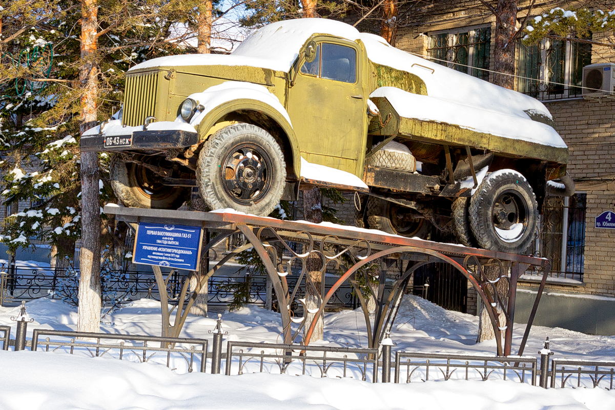
[[[438,64],[489,80],[491,28],[448,31],[429,36],[427,55]]]

